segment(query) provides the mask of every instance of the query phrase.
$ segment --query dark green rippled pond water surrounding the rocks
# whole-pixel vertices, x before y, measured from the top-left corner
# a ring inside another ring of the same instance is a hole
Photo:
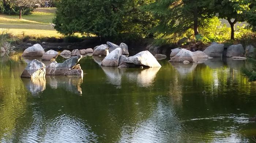
[[[31,60],[20,55],[0,57],[0,142],[255,142],[256,83],[241,73],[248,61],[118,69],[85,56],[83,77],[31,81],[20,78]]]

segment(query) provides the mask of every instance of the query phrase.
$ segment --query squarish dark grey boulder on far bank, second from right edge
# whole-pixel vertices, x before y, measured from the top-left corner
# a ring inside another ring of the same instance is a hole
[[[227,48],[226,57],[239,57],[244,56],[244,47],[242,44],[231,45]]]

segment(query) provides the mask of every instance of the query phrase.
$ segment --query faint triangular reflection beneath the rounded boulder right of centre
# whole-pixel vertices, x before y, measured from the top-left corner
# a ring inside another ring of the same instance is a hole
[[[172,62],[171,64],[181,75],[187,75],[191,73],[197,66],[197,63],[183,64],[179,62]]]

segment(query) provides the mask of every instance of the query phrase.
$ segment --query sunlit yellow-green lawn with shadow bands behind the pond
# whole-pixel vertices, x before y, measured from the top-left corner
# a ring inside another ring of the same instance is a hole
[[[37,8],[32,15],[0,15],[0,29],[9,29],[15,36],[63,37],[50,26],[55,8]]]

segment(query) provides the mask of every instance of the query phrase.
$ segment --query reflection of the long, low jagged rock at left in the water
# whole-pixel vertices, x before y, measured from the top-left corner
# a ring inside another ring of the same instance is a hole
[[[46,83],[53,89],[62,87],[69,92],[82,95],[82,76],[46,76]]]

